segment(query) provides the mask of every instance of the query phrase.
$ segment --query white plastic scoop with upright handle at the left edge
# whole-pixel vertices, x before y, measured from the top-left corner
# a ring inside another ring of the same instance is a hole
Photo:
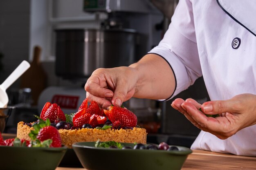
[[[29,62],[22,61],[20,65],[7,77],[6,80],[0,85],[0,108],[5,108],[8,104],[9,98],[6,89],[13,84],[28,68]]]

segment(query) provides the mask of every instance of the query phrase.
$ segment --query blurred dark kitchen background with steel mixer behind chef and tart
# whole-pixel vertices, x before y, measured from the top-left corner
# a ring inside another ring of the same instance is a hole
[[[4,132],[33,122],[46,102],[74,113],[96,68],[128,66],[156,46],[178,0],[1,0],[0,84],[22,62],[31,68],[7,89],[12,110]],[[174,98],[209,100],[201,77]],[[191,146],[199,131],[171,108],[173,100],[132,98],[125,106],[150,143]]]

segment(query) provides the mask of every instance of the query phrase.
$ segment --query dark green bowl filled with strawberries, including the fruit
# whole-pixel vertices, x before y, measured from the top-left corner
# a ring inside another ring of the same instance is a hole
[[[27,139],[5,139],[0,133],[0,169],[3,170],[55,170],[67,147],[61,144],[58,130],[50,121],[41,120]]]

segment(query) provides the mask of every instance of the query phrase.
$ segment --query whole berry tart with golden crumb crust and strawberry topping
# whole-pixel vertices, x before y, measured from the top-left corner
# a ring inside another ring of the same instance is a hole
[[[130,110],[110,106],[109,110],[99,108],[92,101],[88,107],[85,99],[76,113],[65,115],[57,104],[47,102],[38,121],[18,123],[17,137],[29,140],[29,132],[40,120],[49,119],[51,126],[58,129],[62,144],[72,148],[75,142],[117,141],[124,143],[146,144],[146,129],[137,126],[137,117]]]

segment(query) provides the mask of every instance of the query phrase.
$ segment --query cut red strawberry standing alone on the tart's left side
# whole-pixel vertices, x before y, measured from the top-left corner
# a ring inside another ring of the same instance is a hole
[[[52,123],[55,123],[56,121],[66,121],[66,117],[60,106],[56,103],[51,104],[50,102],[47,102],[43,107],[40,118],[43,120],[49,118]]]

